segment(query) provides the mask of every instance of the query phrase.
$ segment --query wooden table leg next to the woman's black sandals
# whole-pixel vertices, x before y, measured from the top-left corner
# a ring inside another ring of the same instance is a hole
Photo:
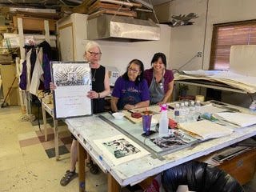
[[[79,178],[79,192],[86,192],[86,150],[78,143],[78,178]]]

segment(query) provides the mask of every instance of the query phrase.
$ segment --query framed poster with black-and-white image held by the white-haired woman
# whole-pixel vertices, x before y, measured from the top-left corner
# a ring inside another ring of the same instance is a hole
[[[86,62],[51,62],[54,117],[74,118],[92,114],[90,66]]]

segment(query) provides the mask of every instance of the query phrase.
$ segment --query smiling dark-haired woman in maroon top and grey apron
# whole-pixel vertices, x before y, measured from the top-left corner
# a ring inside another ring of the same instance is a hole
[[[174,74],[166,70],[166,55],[154,54],[149,70],[144,71],[144,78],[150,90],[150,105],[166,103],[174,89]]]

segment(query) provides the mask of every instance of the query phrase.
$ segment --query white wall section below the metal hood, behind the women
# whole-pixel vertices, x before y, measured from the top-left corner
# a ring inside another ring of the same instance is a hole
[[[160,25],[161,34],[159,41],[146,42],[110,42],[97,41],[102,48],[103,66],[116,66],[121,74],[126,71],[128,63],[138,58],[143,63],[145,68],[150,68],[151,59],[156,52],[166,54],[167,66],[170,61],[170,27]]]

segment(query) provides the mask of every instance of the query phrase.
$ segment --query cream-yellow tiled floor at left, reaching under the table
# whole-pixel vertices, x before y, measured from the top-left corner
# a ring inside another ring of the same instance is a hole
[[[58,162],[49,158],[46,148],[53,146],[54,141],[40,142],[38,138],[42,135],[38,125],[32,126],[21,117],[19,106],[0,108],[0,192],[78,191],[78,178],[67,186],[59,184],[69,167],[70,154],[62,154]],[[66,126],[60,126],[60,132],[64,135]],[[68,143],[64,146],[69,150]],[[86,191],[107,191],[106,174],[93,175],[86,170],[86,178]],[[256,192],[256,177],[245,189],[246,192]],[[124,188],[122,191],[129,190]]]

